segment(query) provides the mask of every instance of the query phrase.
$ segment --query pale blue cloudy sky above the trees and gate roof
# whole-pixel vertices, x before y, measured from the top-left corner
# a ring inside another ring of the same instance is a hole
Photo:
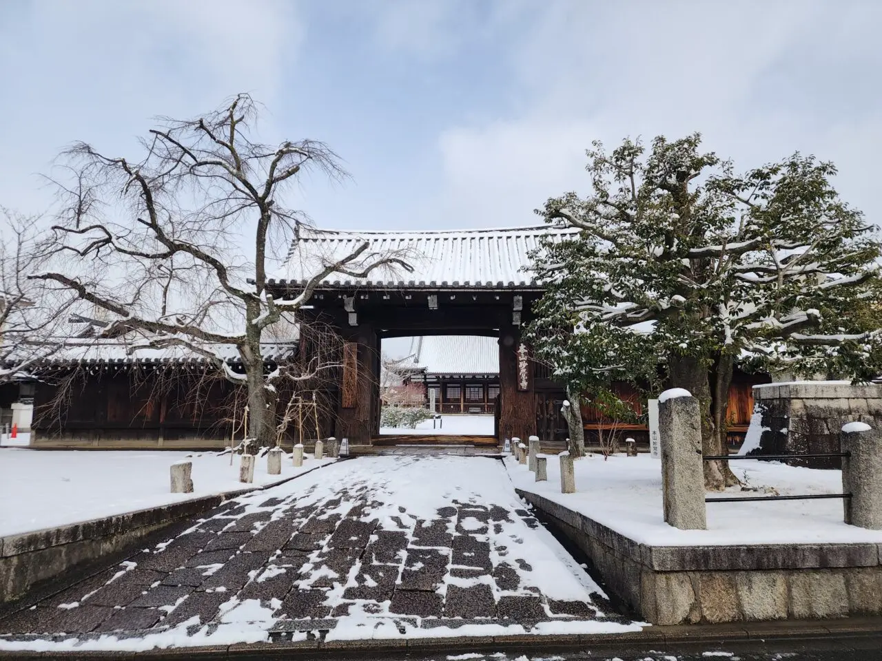
[[[0,3],[0,204],[83,139],[131,154],[153,115],[229,94],[325,140],[352,182],[303,181],[321,227],[500,227],[585,185],[584,149],[693,130],[746,168],[834,160],[878,222],[882,3],[583,0]]]

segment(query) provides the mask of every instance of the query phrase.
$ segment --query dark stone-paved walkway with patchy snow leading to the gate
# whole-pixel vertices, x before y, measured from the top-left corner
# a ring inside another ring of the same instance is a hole
[[[360,457],[229,501],[0,620],[0,649],[634,628],[598,592],[496,459]]]

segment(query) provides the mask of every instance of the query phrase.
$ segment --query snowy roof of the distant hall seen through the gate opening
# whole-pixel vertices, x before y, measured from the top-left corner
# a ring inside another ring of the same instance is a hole
[[[427,374],[499,374],[497,338],[425,335],[410,344],[413,365]]]

